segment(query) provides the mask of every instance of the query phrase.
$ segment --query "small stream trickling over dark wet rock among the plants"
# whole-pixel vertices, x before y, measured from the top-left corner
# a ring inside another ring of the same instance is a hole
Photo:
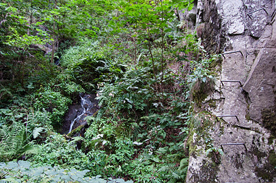
[[[72,104],[64,117],[63,134],[70,133],[80,125],[86,125],[86,116],[92,116],[99,109],[95,94],[79,94],[79,103]]]

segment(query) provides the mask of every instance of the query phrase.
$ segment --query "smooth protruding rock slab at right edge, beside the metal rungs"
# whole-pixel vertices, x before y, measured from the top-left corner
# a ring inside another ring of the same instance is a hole
[[[275,41],[269,40],[268,42],[276,43]],[[259,51],[248,79],[243,87],[244,90],[248,92],[251,102],[249,107],[250,119],[259,122],[260,124],[264,122],[262,111],[266,109],[274,109],[276,106],[275,45],[271,48],[265,43],[265,47]]]

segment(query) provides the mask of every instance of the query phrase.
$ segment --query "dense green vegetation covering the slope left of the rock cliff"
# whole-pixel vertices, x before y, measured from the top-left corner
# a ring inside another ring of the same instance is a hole
[[[217,60],[179,22],[187,8],[193,1],[0,3],[2,181],[184,182],[193,101]],[[97,93],[101,108],[83,136],[61,135],[81,92]]]

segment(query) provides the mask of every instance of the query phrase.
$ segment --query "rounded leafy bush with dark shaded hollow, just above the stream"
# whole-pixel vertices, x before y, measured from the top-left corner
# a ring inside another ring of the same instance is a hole
[[[106,54],[108,50],[100,49],[98,41],[86,39],[81,43],[61,56],[61,66],[67,68],[75,83],[80,83],[88,92],[95,92],[97,83],[106,79],[114,82],[122,75],[125,66],[113,61]]]

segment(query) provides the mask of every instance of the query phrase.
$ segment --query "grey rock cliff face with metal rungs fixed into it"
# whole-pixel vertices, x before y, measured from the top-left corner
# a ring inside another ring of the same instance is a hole
[[[224,58],[193,119],[186,182],[276,182],[275,0],[195,4],[204,47]]]

